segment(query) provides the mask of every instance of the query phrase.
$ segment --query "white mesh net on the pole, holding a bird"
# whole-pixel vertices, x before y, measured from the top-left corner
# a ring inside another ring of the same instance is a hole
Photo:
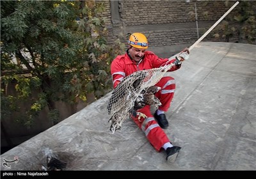
[[[174,64],[141,70],[125,77],[114,89],[108,103],[108,114],[111,115],[110,130],[120,129],[122,123],[130,117],[136,98],[143,90],[154,86]]]

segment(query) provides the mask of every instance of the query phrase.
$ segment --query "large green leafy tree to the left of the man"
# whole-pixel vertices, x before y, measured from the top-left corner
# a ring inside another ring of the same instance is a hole
[[[54,102],[112,89],[109,65],[124,49],[107,45],[103,11],[94,1],[1,1],[1,118],[15,112],[32,125],[46,107],[56,123]]]

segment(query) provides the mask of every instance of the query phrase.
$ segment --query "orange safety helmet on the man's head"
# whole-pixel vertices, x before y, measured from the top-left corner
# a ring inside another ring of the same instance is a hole
[[[145,35],[142,33],[133,33],[128,43],[132,45],[132,47],[138,48],[138,49],[147,49],[148,48],[148,40]]]

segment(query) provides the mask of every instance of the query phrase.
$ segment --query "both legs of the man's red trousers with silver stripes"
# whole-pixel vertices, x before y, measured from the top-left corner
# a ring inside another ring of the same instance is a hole
[[[175,91],[175,81],[173,77],[163,77],[155,86],[161,87],[156,93],[156,97],[159,98],[162,104],[159,106],[159,109],[161,111],[168,111]],[[166,136],[163,128],[154,120],[154,116],[150,113],[149,105],[139,109],[137,112],[145,114],[147,118],[139,119],[139,116],[136,116],[136,118],[132,116],[132,120],[141,128],[150,144],[159,152],[163,144],[170,142],[170,140]]]

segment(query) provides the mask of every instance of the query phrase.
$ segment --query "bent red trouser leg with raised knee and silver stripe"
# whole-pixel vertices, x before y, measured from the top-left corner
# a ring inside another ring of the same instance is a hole
[[[176,88],[175,79],[173,77],[163,77],[157,82],[156,86],[161,87],[161,90],[156,93],[156,97],[159,98],[162,104],[159,109],[168,111]]]

